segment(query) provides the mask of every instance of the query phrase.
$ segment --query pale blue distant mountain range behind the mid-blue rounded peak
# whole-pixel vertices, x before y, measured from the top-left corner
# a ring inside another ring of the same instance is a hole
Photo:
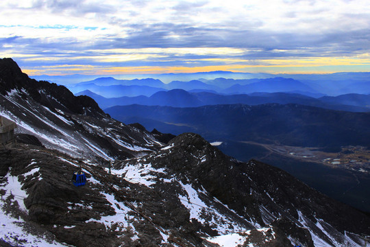
[[[252,80],[190,80],[188,82],[173,81],[164,84],[160,80],[151,78],[143,80],[116,80],[114,78],[97,78],[88,82],[80,82],[69,86],[73,93],[80,91],[92,91],[103,97],[123,97],[123,96],[151,96],[158,91],[171,89],[183,89],[185,91],[214,91],[221,94],[243,94],[243,93],[277,93],[295,92],[302,94],[318,94],[319,92],[310,88],[297,80],[291,78],[269,78]]]

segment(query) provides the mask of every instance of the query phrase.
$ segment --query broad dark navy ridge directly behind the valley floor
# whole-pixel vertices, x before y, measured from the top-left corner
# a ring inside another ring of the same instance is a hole
[[[125,122],[127,117],[156,119],[178,126],[194,126],[206,139],[275,142],[300,147],[370,147],[370,113],[350,113],[300,104],[229,104],[175,108],[114,106],[106,113]],[[153,128],[154,126],[145,126]],[[157,128],[158,129],[158,128]],[[182,130],[173,128],[173,134]]]

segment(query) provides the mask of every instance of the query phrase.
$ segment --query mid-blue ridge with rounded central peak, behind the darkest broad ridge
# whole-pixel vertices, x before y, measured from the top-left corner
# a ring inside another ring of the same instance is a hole
[[[103,109],[112,106],[127,106],[130,104],[140,104],[146,106],[173,106],[173,107],[197,107],[217,104],[302,104],[306,106],[317,106],[332,110],[347,110],[351,112],[370,111],[368,102],[370,95],[353,95],[351,101],[347,97],[325,97],[316,99],[297,93],[252,93],[250,95],[221,95],[217,93],[199,92],[190,93],[182,89],[170,91],[160,91],[150,97],[113,97],[106,98],[91,91],[82,91],[75,95],[87,95],[95,99]],[[321,100],[325,99],[325,100]],[[344,104],[348,103],[348,104]]]

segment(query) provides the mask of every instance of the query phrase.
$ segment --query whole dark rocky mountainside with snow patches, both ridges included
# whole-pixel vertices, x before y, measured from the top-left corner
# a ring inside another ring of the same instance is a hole
[[[197,134],[126,126],[93,103],[79,112],[63,88],[0,65],[1,115],[23,141],[0,150],[0,245],[361,246],[370,234],[369,216],[280,169]],[[71,182],[79,164],[84,187]]]

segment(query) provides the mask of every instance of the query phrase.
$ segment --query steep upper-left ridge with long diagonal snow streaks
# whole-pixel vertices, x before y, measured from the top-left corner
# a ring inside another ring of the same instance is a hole
[[[0,60],[0,65],[0,115],[14,121],[18,133],[36,136],[46,148],[112,161],[162,145],[151,133],[111,119],[89,97],[31,80],[12,60]]]

